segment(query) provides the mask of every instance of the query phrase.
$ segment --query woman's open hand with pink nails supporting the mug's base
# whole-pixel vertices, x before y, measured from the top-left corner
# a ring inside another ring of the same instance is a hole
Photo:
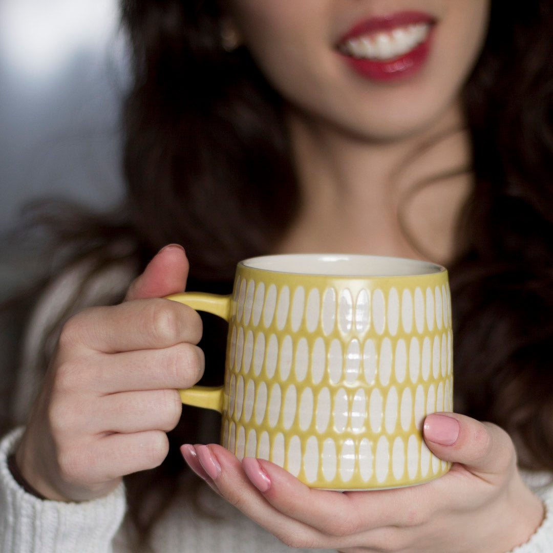
[[[426,417],[430,450],[453,462],[445,476],[405,488],[333,492],[305,486],[269,461],[242,462],[218,445],[181,448],[208,484],[292,547],[402,553],[505,553],[544,516],[498,426],[457,414]]]

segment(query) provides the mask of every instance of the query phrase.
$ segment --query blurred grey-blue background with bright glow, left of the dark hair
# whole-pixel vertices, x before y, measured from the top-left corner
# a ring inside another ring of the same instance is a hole
[[[117,202],[126,79],[117,0],[0,0],[0,234],[29,200]],[[2,242],[0,296],[26,270]]]

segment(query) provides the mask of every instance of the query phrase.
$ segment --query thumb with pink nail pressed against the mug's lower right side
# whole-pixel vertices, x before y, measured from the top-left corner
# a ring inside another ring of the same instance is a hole
[[[489,422],[456,413],[434,413],[426,417],[423,435],[434,455],[461,463],[478,476],[502,474],[516,465],[509,435]]]

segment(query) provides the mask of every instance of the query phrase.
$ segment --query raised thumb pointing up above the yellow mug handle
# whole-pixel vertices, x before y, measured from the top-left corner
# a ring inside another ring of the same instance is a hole
[[[125,300],[161,298],[182,292],[188,270],[184,248],[179,244],[169,244],[154,255],[144,272],[132,282]]]

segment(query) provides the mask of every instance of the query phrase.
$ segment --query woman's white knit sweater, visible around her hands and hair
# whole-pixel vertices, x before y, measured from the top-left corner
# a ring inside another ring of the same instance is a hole
[[[86,268],[81,268],[86,270]],[[18,398],[20,418],[24,418],[39,385],[36,366],[37,348],[44,329],[64,312],[68,290],[82,281],[76,270],[62,277],[46,291],[30,325],[25,341],[25,358],[19,372]],[[118,267],[109,274],[90,280],[81,294],[81,305],[108,302],[126,288],[130,274]],[[65,301],[64,301],[65,300]],[[126,510],[123,486],[107,497],[84,503],[41,500],[25,492],[8,469],[7,457],[15,446],[22,428],[10,432],[0,441],[0,553],[129,553],[132,551],[121,530]],[[527,481],[544,500],[546,517],[526,544],[513,553],[553,553],[553,484],[540,485],[540,475],[527,475]],[[541,475],[543,476],[543,475]],[[225,552],[278,553],[290,551],[274,536],[242,515],[237,509],[205,486],[200,495],[202,512],[189,501],[175,502],[154,528],[152,544],[155,553]],[[137,553],[133,551],[133,553]],[[447,553],[447,551],[444,551]]]

